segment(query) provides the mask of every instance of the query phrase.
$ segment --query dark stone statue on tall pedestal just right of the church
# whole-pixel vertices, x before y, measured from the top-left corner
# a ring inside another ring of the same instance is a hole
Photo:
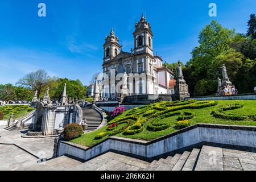
[[[184,100],[185,97],[190,97],[188,93],[188,85],[186,84],[186,81],[184,80],[184,76],[182,73],[182,65],[180,61],[177,65],[177,81],[174,86],[175,89],[175,97],[176,100]]]

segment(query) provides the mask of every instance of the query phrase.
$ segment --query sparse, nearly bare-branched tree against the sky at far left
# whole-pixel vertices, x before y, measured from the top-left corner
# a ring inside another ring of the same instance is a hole
[[[26,88],[32,89],[32,90],[38,90],[38,97],[42,93],[42,90],[46,88],[49,82],[49,76],[47,75],[47,72],[44,71],[44,69],[39,69],[38,71],[28,73],[23,78],[20,78],[20,80],[16,83],[20,86],[25,86]]]

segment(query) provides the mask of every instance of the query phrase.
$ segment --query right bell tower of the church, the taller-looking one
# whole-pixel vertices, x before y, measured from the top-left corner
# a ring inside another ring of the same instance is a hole
[[[139,23],[135,24],[134,35],[134,54],[149,53],[153,56],[153,33],[151,31],[150,23],[146,21],[144,15],[141,15]]]

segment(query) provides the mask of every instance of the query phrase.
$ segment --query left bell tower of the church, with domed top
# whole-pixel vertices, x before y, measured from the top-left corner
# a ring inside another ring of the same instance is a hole
[[[118,36],[115,36],[113,28],[110,31],[109,36],[106,36],[104,47],[104,63],[108,63],[120,52],[120,45]]]

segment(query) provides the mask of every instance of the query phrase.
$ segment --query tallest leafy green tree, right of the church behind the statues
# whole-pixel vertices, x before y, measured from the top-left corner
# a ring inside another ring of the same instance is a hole
[[[216,80],[218,76],[218,64],[223,62],[221,57],[233,52],[230,43],[234,35],[234,30],[222,27],[215,20],[201,30],[199,46],[191,52],[192,59],[187,63],[188,69],[185,69],[185,75],[193,77],[191,80],[195,81],[193,84],[189,84],[189,86],[194,86],[194,94],[203,96],[216,92],[216,88],[213,87],[213,80]],[[219,60],[217,62],[216,57]],[[200,89],[203,87],[207,88],[201,92]]]

